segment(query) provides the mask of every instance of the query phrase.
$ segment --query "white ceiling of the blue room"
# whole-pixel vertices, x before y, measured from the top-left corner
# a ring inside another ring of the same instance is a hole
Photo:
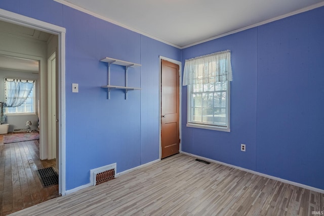
[[[177,47],[324,6],[324,0],[55,1]]]

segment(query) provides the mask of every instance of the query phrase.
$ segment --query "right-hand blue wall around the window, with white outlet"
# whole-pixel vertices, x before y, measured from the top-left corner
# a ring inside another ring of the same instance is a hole
[[[233,81],[231,132],[187,128],[183,106],[182,150],[324,189],[323,26],[321,7],[183,49],[230,49]]]

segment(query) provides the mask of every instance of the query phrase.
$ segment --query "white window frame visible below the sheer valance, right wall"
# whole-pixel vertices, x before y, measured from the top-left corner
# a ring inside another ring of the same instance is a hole
[[[227,91],[226,91],[226,96],[227,96],[227,126],[226,127],[221,127],[217,125],[210,125],[210,124],[202,124],[202,123],[195,123],[190,121],[190,111],[191,111],[191,100],[192,100],[192,95],[191,95],[191,85],[187,86],[187,127],[191,128],[200,128],[200,129],[208,129],[208,130],[215,130],[215,131],[224,131],[224,132],[230,132],[230,81],[227,81]]]

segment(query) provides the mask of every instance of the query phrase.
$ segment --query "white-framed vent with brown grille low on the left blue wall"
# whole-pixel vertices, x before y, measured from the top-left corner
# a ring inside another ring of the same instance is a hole
[[[115,178],[116,163],[90,170],[90,183],[91,185],[99,185],[103,182]]]

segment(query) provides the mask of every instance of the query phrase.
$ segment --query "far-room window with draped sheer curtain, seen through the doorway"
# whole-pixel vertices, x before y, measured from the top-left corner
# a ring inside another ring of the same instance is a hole
[[[35,113],[35,81],[7,79],[5,80],[6,114]]]

